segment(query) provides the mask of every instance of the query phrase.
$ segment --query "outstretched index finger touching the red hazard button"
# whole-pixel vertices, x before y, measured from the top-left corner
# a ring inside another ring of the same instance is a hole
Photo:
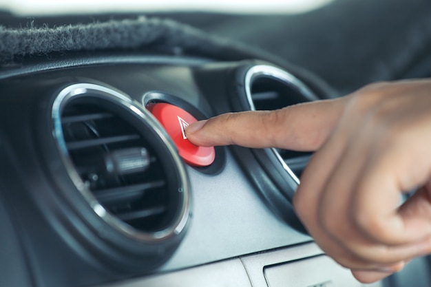
[[[341,116],[346,100],[320,100],[274,111],[229,113],[192,123],[187,138],[195,145],[318,149]]]

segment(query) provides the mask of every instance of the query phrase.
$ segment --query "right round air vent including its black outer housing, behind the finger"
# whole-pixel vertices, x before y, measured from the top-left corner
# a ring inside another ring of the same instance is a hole
[[[234,78],[231,103],[235,111],[280,109],[317,100],[302,81],[272,65],[246,62],[234,70]],[[235,148],[235,153],[271,211],[304,232],[291,200],[311,153],[240,147]]]

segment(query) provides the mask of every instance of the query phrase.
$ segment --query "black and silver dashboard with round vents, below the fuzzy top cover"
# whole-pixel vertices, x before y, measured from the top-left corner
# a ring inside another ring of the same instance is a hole
[[[430,286],[429,257],[366,285],[313,243],[291,206],[311,153],[185,158],[189,120],[171,112],[171,134],[155,105],[202,120],[330,97],[319,78],[244,58],[107,50],[3,65],[0,286]]]

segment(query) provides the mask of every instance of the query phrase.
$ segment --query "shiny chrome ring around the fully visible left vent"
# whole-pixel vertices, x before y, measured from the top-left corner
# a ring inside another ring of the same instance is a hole
[[[156,131],[156,134],[165,145],[167,151],[169,151],[170,156],[175,162],[176,169],[180,177],[180,188],[178,188],[178,193],[182,196],[182,206],[180,206],[180,211],[177,219],[173,224],[163,229],[162,231],[156,231],[151,233],[146,233],[143,231],[138,231],[136,228],[129,226],[125,222],[118,219],[118,217],[112,215],[107,211],[99,202],[96,200],[92,192],[85,186],[83,180],[78,175],[72,159],[67,151],[65,139],[63,136],[63,129],[61,127],[61,113],[67,103],[70,100],[78,97],[85,97],[91,94],[92,98],[101,98],[103,100],[108,100],[109,102],[120,105],[130,113],[134,114],[136,118],[143,122],[145,125],[149,125],[151,129]],[[90,205],[91,209],[101,217],[109,226],[112,226],[116,231],[119,231],[123,235],[130,237],[134,240],[140,242],[160,242],[166,240],[169,237],[180,234],[187,224],[189,218],[189,180],[187,177],[187,172],[174,143],[170,140],[169,136],[162,129],[158,121],[152,116],[149,111],[141,107],[141,105],[136,101],[129,98],[125,94],[121,94],[113,89],[104,87],[101,85],[94,85],[91,83],[77,83],[65,87],[56,96],[54,103],[52,105],[52,135],[56,140],[56,145],[59,149],[61,160],[65,164],[67,173],[69,174],[72,182],[74,183],[76,189],[83,196],[83,198]]]

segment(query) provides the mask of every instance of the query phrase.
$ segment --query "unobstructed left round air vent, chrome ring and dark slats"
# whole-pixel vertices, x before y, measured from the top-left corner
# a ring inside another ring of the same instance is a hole
[[[182,231],[185,170],[147,111],[112,89],[77,84],[56,98],[53,117],[70,178],[96,215],[141,241]]]

